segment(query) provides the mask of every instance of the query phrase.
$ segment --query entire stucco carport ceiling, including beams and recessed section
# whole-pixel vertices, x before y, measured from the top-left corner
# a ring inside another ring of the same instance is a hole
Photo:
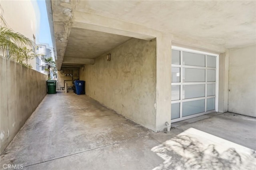
[[[174,42],[224,48],[256,42],[256,1],[52,0],[46,4],[52,7],[48,14],[53,17],[58,69],[62,63],[92,64],[95,57],[129,37],[152,40],[159,31],[171,34]]]

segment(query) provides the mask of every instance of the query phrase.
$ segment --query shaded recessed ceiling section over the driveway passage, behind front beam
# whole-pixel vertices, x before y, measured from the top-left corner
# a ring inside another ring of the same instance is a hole
[[[72,28],[64,57],[94,59],[129,39],[126,36]]]

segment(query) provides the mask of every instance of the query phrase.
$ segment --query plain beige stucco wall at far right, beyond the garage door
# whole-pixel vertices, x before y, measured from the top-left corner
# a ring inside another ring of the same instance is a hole
[[[228,111],[256,117],[256,45],[229,53]]]

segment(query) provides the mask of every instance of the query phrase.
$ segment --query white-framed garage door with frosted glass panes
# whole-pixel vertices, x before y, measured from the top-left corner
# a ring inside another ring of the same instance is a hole
[[[218,111],[218,57],[172,46],[171,122]]]

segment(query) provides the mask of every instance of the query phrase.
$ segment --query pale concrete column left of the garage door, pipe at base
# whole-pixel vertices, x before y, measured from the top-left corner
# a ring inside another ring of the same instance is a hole
[[[171,36],[156,38],[156,131],[171,123]]]

